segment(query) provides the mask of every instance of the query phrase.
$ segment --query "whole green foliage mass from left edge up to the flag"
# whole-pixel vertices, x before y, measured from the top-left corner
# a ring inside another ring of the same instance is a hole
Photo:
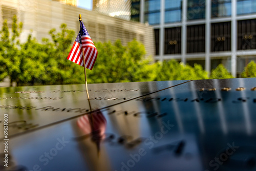
[[[42,44],[31,35],[27,42],[20,44],[21,30],[22,24],[17,25],[16,16],[13,17],[12,36],[7,21],[4,22],[0,44],[0,80],[9,76],[10,84],[16,82],[17,86],[83,81],[83,69],[71,65],[66,59],[75,34],[67,29],[67,25],[62,24],[60,32],[50,30],[51,40],[44,38]]]

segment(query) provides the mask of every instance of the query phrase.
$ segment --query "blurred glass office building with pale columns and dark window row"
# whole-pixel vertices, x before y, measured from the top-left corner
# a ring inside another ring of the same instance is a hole
[[[133,0],[131,9],[154,27],[156,60],[222,63],[233,76],[256,61],[256,0]]]

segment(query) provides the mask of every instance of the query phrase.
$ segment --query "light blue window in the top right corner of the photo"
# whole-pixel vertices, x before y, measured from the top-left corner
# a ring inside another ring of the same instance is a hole
[[[255,0],[238,0],[237,14],[251,14],[256,13],[256,1]]]

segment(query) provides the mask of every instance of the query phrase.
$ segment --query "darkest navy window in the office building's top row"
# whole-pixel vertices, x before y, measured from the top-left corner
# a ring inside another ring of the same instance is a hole
[[[187,1],[187,20],[205,18],[205,0]]]

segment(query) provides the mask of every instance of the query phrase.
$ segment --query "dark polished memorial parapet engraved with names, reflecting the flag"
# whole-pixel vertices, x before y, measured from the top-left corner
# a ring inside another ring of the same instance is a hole
[[[255,78],[88,86],[0,88],[0,169],[256,170]]]

